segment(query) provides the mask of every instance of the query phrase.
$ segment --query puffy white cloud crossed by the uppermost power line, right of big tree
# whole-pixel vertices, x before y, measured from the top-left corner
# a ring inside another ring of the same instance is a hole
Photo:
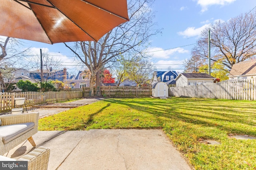
[[[152,54],[152,58],[155,59],[169,59],[171,55],[176,53],[189,53],[188,50],[182,49],[180,47],[175,49],[163,50],[159,47],[152,47],[147,50],[150,54]]]

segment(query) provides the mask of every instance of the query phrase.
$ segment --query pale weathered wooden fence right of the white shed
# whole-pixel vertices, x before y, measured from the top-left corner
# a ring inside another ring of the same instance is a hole
[[[170,96],[256,100],[256,78],[232,79],[218,83],[204,83],[196,86],[171,87]]]

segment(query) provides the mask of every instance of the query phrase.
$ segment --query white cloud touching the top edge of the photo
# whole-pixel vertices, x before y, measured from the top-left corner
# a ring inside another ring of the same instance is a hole
[[[236,0],[196,0],[197,4],[202,7],[201,12],[205,12],[208,10],[208,7],[211,5],[227,5],[232,2],[235,2]]]

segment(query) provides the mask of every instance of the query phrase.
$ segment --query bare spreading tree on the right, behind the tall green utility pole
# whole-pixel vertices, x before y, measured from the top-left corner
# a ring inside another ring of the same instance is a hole
[[[241,14],[227,22],[218,21],[204,29],[197,45],[192,49],[192,57],[200,56],[201,65],[208,61],[209,29],[211,61],[221,62],[230,70],[236,63],[255,58],[256,11],[253,14]]]

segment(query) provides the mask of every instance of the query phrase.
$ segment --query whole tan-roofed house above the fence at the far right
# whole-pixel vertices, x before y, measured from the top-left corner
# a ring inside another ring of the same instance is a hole
[[[243,61],[234,64],[228,75],[230,79],[249,79],[256,77],[256,60]]]

